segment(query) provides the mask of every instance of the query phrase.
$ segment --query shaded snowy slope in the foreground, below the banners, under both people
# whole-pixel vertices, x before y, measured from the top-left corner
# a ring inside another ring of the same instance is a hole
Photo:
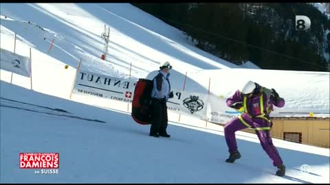
[[[171,122],[170,138],[151,138],[149,126],[124,112],[6,82],[0,103],[1,183],[329,183],[329,149],[274,139],[287,165],[287,176],[277,177],[254,134],[236,133],[242,158],[228,164],[223,130]],[[59,153],[59,173],[19,169],[21,152]],[[303,164],[311,167],[309,173],[300,171]]]

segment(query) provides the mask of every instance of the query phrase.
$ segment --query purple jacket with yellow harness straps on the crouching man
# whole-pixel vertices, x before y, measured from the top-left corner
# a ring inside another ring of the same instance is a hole
[[[228,98],[226,103],[230,107],[232,103],[241,102],[243,107],[246,109],[241,117],[245,121],[252,121],[252,118],[259,116],[264,113],[267,119],[270,119],[270,112],[273,110],[273,105],[282,108],[285,105],[285,100],[278,97],[277,101],[273,95],[271,95],[272,90],[264,88],[261,92],[261,86],[257,87],[256,93],[251,93],[247,95],[246,105],[244,106],[244,94],[241,91],[236,90],[232,97]],[[263,112],[261,112],[261,95],[263,97]]]

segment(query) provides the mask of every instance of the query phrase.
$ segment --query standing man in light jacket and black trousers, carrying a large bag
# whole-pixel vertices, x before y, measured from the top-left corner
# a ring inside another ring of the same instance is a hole
[[[168,79],[172,66],[169,62],[165,62],[159,69],[158,74],[153,78],[153,90],[151,91],[153,119],[149,136],[169,138],[170,135],[166,132],[168,125],[166,102],[169,98],[173,98],[173,92],[170,91],[170,80]]]

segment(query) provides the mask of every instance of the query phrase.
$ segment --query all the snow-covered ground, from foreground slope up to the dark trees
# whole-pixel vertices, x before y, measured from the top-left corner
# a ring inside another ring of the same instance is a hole
[[[80,58],[86,70],[115,77],[128,78],[132,64],[133,79],[168,60],[174,88],[182,88],[187,72],[186,90],[206,93],[211,79],[210,93],[227,97],[248,76],[278,89],[286,110],[329,117],[329,73],[239,69],[126,3],[1,3],[0,20],[1,49],[14,51],[14,33],[16,53],[29,57],[32,47],[33,88],[30,78],[1,70],[1,183],[329,183],[329,149],[274,139],[287,165],[287,176],[276,177],[254,134],[236,133],[242,158],[227,164],[218,125],[205,127],[205,121],[184,116],[175,123],[178,115],[169,114],[171,138],[150,138],[149,127],[137,125],[126,112],[127,103],[69,99]],[[105,62],[100,60],[104,24],[111,29]],[[60,173],[19,169],[21,152],[60,153]],[[310,173],[300,171],[303,164]]]

